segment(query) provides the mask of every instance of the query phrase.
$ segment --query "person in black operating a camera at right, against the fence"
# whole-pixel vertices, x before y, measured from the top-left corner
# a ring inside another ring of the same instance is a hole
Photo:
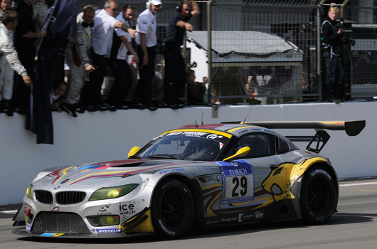
[[[335,103],[340,102],[338,100],[339,84],[344,75],[340,56],[344,36],[342,29],[335,27],[338,14],[339,9],[331,4],[321,25],[323,56],[326,61],[326,98]]]

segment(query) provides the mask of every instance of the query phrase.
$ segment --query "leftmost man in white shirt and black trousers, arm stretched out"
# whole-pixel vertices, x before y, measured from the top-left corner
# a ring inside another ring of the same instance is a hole
[[[105,9],[100,9],[95,12],[93,38],[92,38],[92,65],[95,67],[90,73],[90,84],[84,86],[81,100],[85,105],[85,110],[93,112],[100,110],[115,111],[115,107],[109,105],[101,105],[101,86],[105,78],[106,64],[105,55],[109,48],[107,45],[112,39],[112,34],[115,28],[122,28],[127,31],[133,38],[136,31],[129,28],[122,21],[118,21],[115,16],[118,13],[118,4],[115,0],[107,0],[105,2]]]

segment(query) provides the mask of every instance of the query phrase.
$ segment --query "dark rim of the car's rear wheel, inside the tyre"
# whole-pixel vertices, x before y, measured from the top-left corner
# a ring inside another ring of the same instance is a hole
[[[329,181],[326,181],[322,176],[314,177],[310,181],[307,196],[309,208],[312,212],[317,214],[326,213],[329,208],[330,194]]]

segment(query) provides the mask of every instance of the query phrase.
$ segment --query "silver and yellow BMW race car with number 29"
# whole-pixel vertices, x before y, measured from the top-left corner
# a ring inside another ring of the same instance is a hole
[[[365,121],[228,122],[169,130],[128,159],[41,171],[14,216],[13,233],[48,237],[184,235],[264,221],[324,223],[339,181],[318,153],[324,129],[355,136]],[[305,151],[272,129],[314,128]],[[314,148],[312,147],[314,145]]]

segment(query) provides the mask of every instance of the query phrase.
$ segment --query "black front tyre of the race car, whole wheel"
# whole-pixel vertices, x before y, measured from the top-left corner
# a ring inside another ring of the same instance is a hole
[[[174,238],[187,233],[193,223],[193,198],[179,180],[161,182],[152,200],[152,222],[159,235]]]

